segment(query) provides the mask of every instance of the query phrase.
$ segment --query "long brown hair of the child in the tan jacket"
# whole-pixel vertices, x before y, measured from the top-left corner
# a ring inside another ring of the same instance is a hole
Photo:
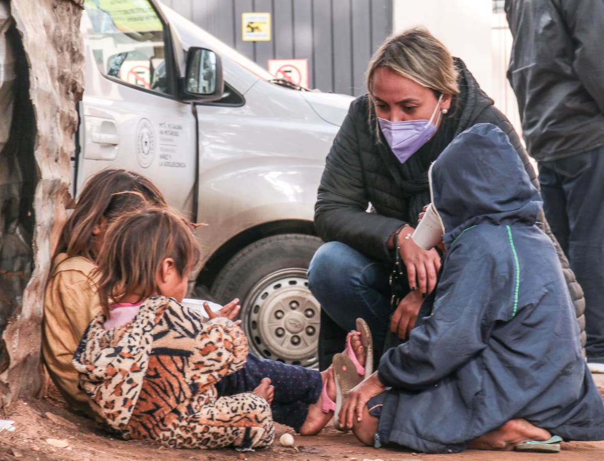
[[[138,192],[139,195],[121,194],[123,192]],[[156,185],[144,176],[121,168],[101,170],[82,189],[76,208],[63,227],[57,251],[66,251],[68,257],[83,256],[94,260],[95,226],[103,218],[106,224],[110,224],[121,213],[140,206],[142,202],[167,206]]]

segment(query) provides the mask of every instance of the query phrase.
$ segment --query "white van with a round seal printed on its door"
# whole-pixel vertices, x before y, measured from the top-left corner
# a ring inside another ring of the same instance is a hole
[[[313,205],[352,97],[275,79],[155,0],[86,0],[74,194],[109,166],[152,179],[196,222],[191,297],[242,300],[259,356],[314,366]]]

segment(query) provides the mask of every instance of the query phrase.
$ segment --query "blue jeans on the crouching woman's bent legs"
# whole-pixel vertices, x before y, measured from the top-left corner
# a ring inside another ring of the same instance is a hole
[[[341,242],[316,250],[308,269],[309,289],[321,305],[320,366],[342,352],[345,333],[356,318],[367,321],[373,349],[380,354],[390,316],[390,266],[376,262]],[[327,344],[329,343],[329,344]]]

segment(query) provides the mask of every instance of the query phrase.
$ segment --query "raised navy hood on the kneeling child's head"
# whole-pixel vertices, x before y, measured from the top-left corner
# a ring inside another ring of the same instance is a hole
[[[446,245],[483,222],[533,225],[542,207],[507,135],[490,123],[455,137],[435,161],[430,182]]]

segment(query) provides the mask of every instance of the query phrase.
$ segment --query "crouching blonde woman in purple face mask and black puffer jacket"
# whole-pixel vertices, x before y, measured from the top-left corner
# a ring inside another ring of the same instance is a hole
[[[377,354],[388,330],[405,340],[413,328],[436,284],[440,254],[422,250],[410,236],[430,202],[428,168],[456,135],[477,123],[495,124],[535,182],[512,125],[425,28],[389,37],[366,78],[369,93],[350,106],[315,205],[315,228],[327,242],[309,268],[309,288],[323,308],[322,367],[356,317],[369,324]]]

